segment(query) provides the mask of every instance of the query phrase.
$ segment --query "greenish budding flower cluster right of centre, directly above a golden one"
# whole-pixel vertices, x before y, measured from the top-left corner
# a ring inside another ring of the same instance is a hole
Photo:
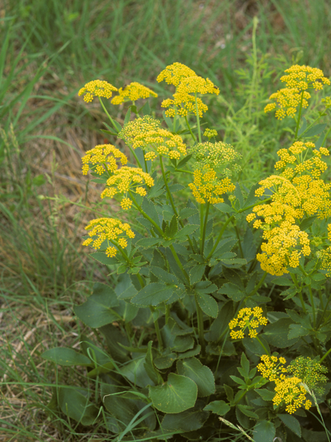
[[[205,142],[195,144],[190,148],[194,160],[197,161],[197,168],[203,169],[205,166],[210,166],[212,169],[219,169],[226,164],[236,161],[241,157],[239,153],[234,151],[230,144],[223,142]],[[236,167],[234,166],[234,169]],[[230,175],[229,169],[223,169],[225,175]]]

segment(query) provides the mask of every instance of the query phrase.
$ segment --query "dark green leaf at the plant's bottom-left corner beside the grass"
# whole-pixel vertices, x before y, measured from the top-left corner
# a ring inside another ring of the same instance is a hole
[[[98,416],[98,409],[87,397],[86,390],[78,387],[59,387],[61,412],[83,425],[92,425]]]

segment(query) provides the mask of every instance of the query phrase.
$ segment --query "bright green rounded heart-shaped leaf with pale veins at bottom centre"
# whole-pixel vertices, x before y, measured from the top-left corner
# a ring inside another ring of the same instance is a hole
[[[157,410],[163,413],[181,413],[194,407],[198,387],[192,379],[170,373],[163,385],[149,387],[149,396]]]

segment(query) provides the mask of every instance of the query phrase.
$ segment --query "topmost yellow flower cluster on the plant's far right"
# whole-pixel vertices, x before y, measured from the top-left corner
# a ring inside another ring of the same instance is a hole
[[[321,69],[311,68],[310,66],[296,64],[286,69],[285,73],[288,73],[288,75],[283,75],[281,81],[286,83],[286,88],[270,95],[269,99],[273,99],[275,102],[267,104],[264,108],[265,113],[267,113],[273,111],[277,106],[275,115],[278,119],[283,119],[286,115],[294,117],[301,100],[303,108],[308,106],[308,99],[310,99],[310,93],[307,92],[308,88],[320,90],[323,89],[323,84],[330,85],[330,80],[324,77]]]

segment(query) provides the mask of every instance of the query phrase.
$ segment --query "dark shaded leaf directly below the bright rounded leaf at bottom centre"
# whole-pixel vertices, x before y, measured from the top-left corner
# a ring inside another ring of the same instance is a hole
[[[178,414],[165,414],[162,421],[164,432],[189,432],[199,430],[207,421],[208,412],[199,409],[186,410]]]

